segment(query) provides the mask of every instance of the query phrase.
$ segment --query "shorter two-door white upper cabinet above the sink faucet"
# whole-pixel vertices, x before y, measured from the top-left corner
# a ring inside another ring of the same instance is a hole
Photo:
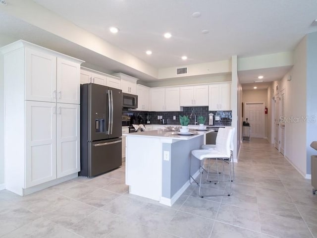
[[[208,106],[208,85],[180,87],[180,106]]]

